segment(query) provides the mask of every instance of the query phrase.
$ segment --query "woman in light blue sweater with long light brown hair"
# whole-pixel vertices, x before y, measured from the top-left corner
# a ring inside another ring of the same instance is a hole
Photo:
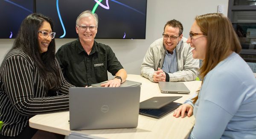
[[[238,54],[230,20],[218,13],[197,16],[189,36],[193,58],[203,60],[202,86],[173,115],[194,114],[191,139],[256,139],[256,78]]]

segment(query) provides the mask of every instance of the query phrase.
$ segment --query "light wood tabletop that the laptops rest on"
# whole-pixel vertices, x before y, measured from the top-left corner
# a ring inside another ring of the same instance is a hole
[[[154,96],[183,96],[175,102],[183,103],[191,98],[198,88],[201,81],[184,82],[190,90],[190,94],[162,94],[158,83],[151,82],[140,75],[128,75],[128,80],[142,82],[140,102]],[[108,139],[184,139],[191,131],[195,118],[194,116],[185,118],[175,118],[173,113],[169,113],[160,119],[139,115],[137,128],[125,129],[105,129],[105,130],[76,130],[90,136],[98,136]],[[69,135],[69,111],[38,114],[29,119],[29,126],[32,128],[46,130],[53,133]]]

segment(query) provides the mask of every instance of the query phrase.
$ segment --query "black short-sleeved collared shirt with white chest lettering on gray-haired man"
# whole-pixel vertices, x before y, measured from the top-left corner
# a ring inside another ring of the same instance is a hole
[[[89,55],[77,39],[62,45],[56,57],[66,80],[78,87],[106,81],[107,71],[114,76],[123,68],[112,49],[96,41]]]

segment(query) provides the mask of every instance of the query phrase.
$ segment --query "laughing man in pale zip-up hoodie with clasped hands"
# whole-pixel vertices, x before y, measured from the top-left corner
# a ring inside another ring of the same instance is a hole
[[[164,26],[163,38],[154,41],[145,54],[141,74],[151,82],[192,81],[198,76],[199,60],[183,37],[183,26],[170,20]]]

